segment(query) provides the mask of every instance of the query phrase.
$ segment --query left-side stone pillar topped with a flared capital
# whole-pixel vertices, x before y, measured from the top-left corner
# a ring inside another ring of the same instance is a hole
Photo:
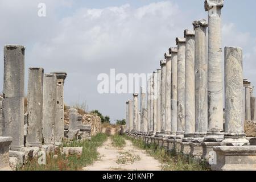
[[[64,139],[64,81],[67,77],[65,72],[53,72],[56,74],[56,116],[55,116],[55,142]]]

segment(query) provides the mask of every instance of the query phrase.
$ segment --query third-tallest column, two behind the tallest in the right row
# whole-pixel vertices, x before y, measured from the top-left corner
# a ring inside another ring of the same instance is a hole
[[[184,31],[185,55],[185,133],[184,142],[192,142],[195,134],[195,31]],[[206,39],[205,39],[206,40]]]

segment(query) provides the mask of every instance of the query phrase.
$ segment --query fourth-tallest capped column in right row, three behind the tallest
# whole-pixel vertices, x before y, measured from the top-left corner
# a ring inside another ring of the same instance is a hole
[[[185,129],[185,39],[176,38],[177,44],[177,139],[184,137]]]

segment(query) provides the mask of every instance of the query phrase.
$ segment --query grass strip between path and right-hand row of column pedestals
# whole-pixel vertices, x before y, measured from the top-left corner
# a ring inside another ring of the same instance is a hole
[[[158,159],[162,163],[163,171],[208,171],[205,162],[198,162],[195,159],[185,156],[175,151],[167,151],[163,147],[154,144],[147,144],[142,139],[134,139],[127,137],[131,140],[135,147],[146,150],[150,156]]]

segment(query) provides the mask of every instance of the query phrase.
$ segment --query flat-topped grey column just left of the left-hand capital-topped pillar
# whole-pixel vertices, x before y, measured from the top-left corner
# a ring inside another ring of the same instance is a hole
[[[44,144],[54,144],[56,113],[56,75],[44,74],[43,83],[43,139]]]

